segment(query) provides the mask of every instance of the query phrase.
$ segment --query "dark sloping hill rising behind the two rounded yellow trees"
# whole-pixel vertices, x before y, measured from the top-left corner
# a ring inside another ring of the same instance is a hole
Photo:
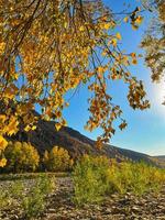
[[[55,130],[54,121],[38,120],[37,129],[29,133],[19,132],[10,138],[12,141],[31,142],[40,154],[54,145],[63,146],[68,150],[72,157],[77,158],[82,154],[106,154],[108,157],[118,160],[145,161],[153,163],[151,156],[130,150],[123,150],[106,144],[101,150],[96,147],[96,142],[80,134],[78,131],[68,127],[62,128],[58,132]]]

